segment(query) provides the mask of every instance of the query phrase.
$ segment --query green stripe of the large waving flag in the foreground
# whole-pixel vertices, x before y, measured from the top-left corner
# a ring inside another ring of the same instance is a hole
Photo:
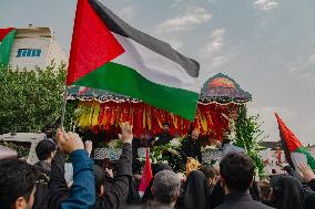
[[[139,98],[190,121],[194,119],[199,94],[153,83],[131,67],[106,63],[81,77],[74,85],[108,90]]]

